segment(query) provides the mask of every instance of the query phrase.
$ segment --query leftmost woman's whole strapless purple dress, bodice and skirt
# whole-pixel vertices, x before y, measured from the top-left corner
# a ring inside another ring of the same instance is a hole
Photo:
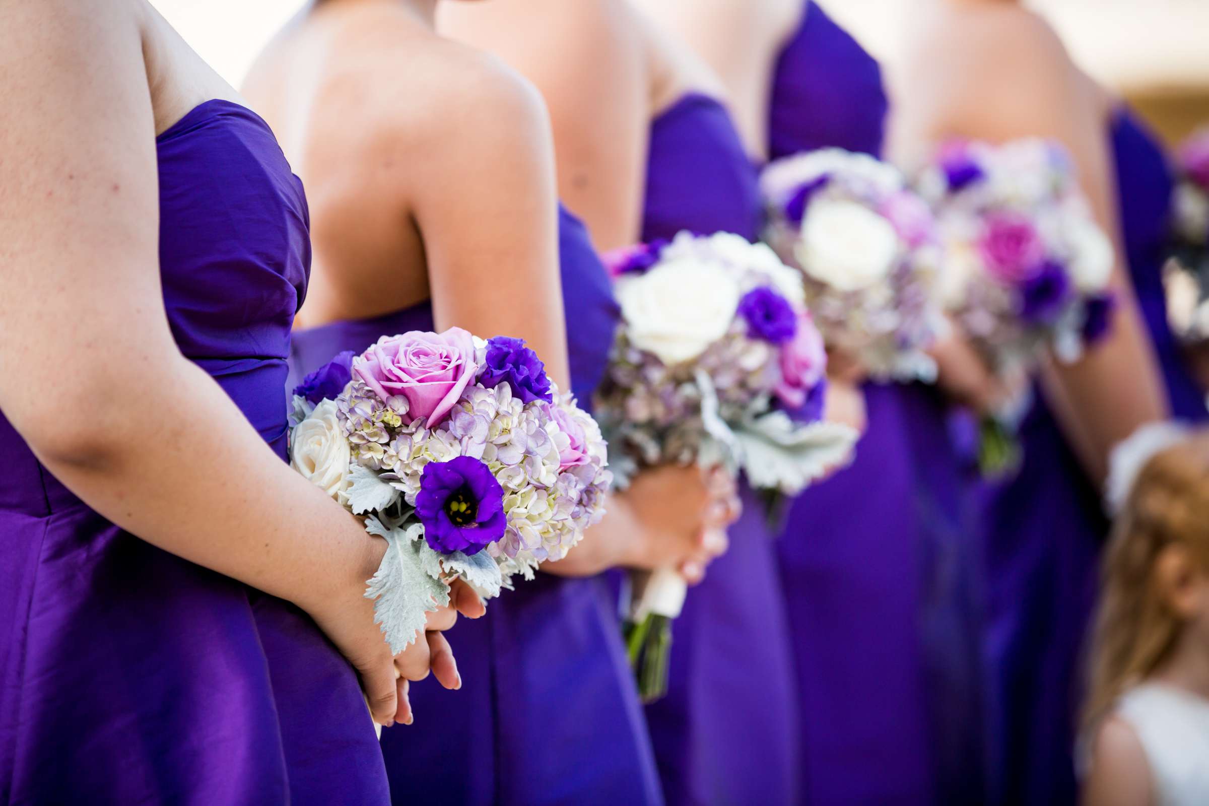
[[[222,100],[156,149],[172,334],[284,459],[301,182]],[[108,522],[2,416],[0,457],[0,802],[388,801],[357,677],[306,614]]]

